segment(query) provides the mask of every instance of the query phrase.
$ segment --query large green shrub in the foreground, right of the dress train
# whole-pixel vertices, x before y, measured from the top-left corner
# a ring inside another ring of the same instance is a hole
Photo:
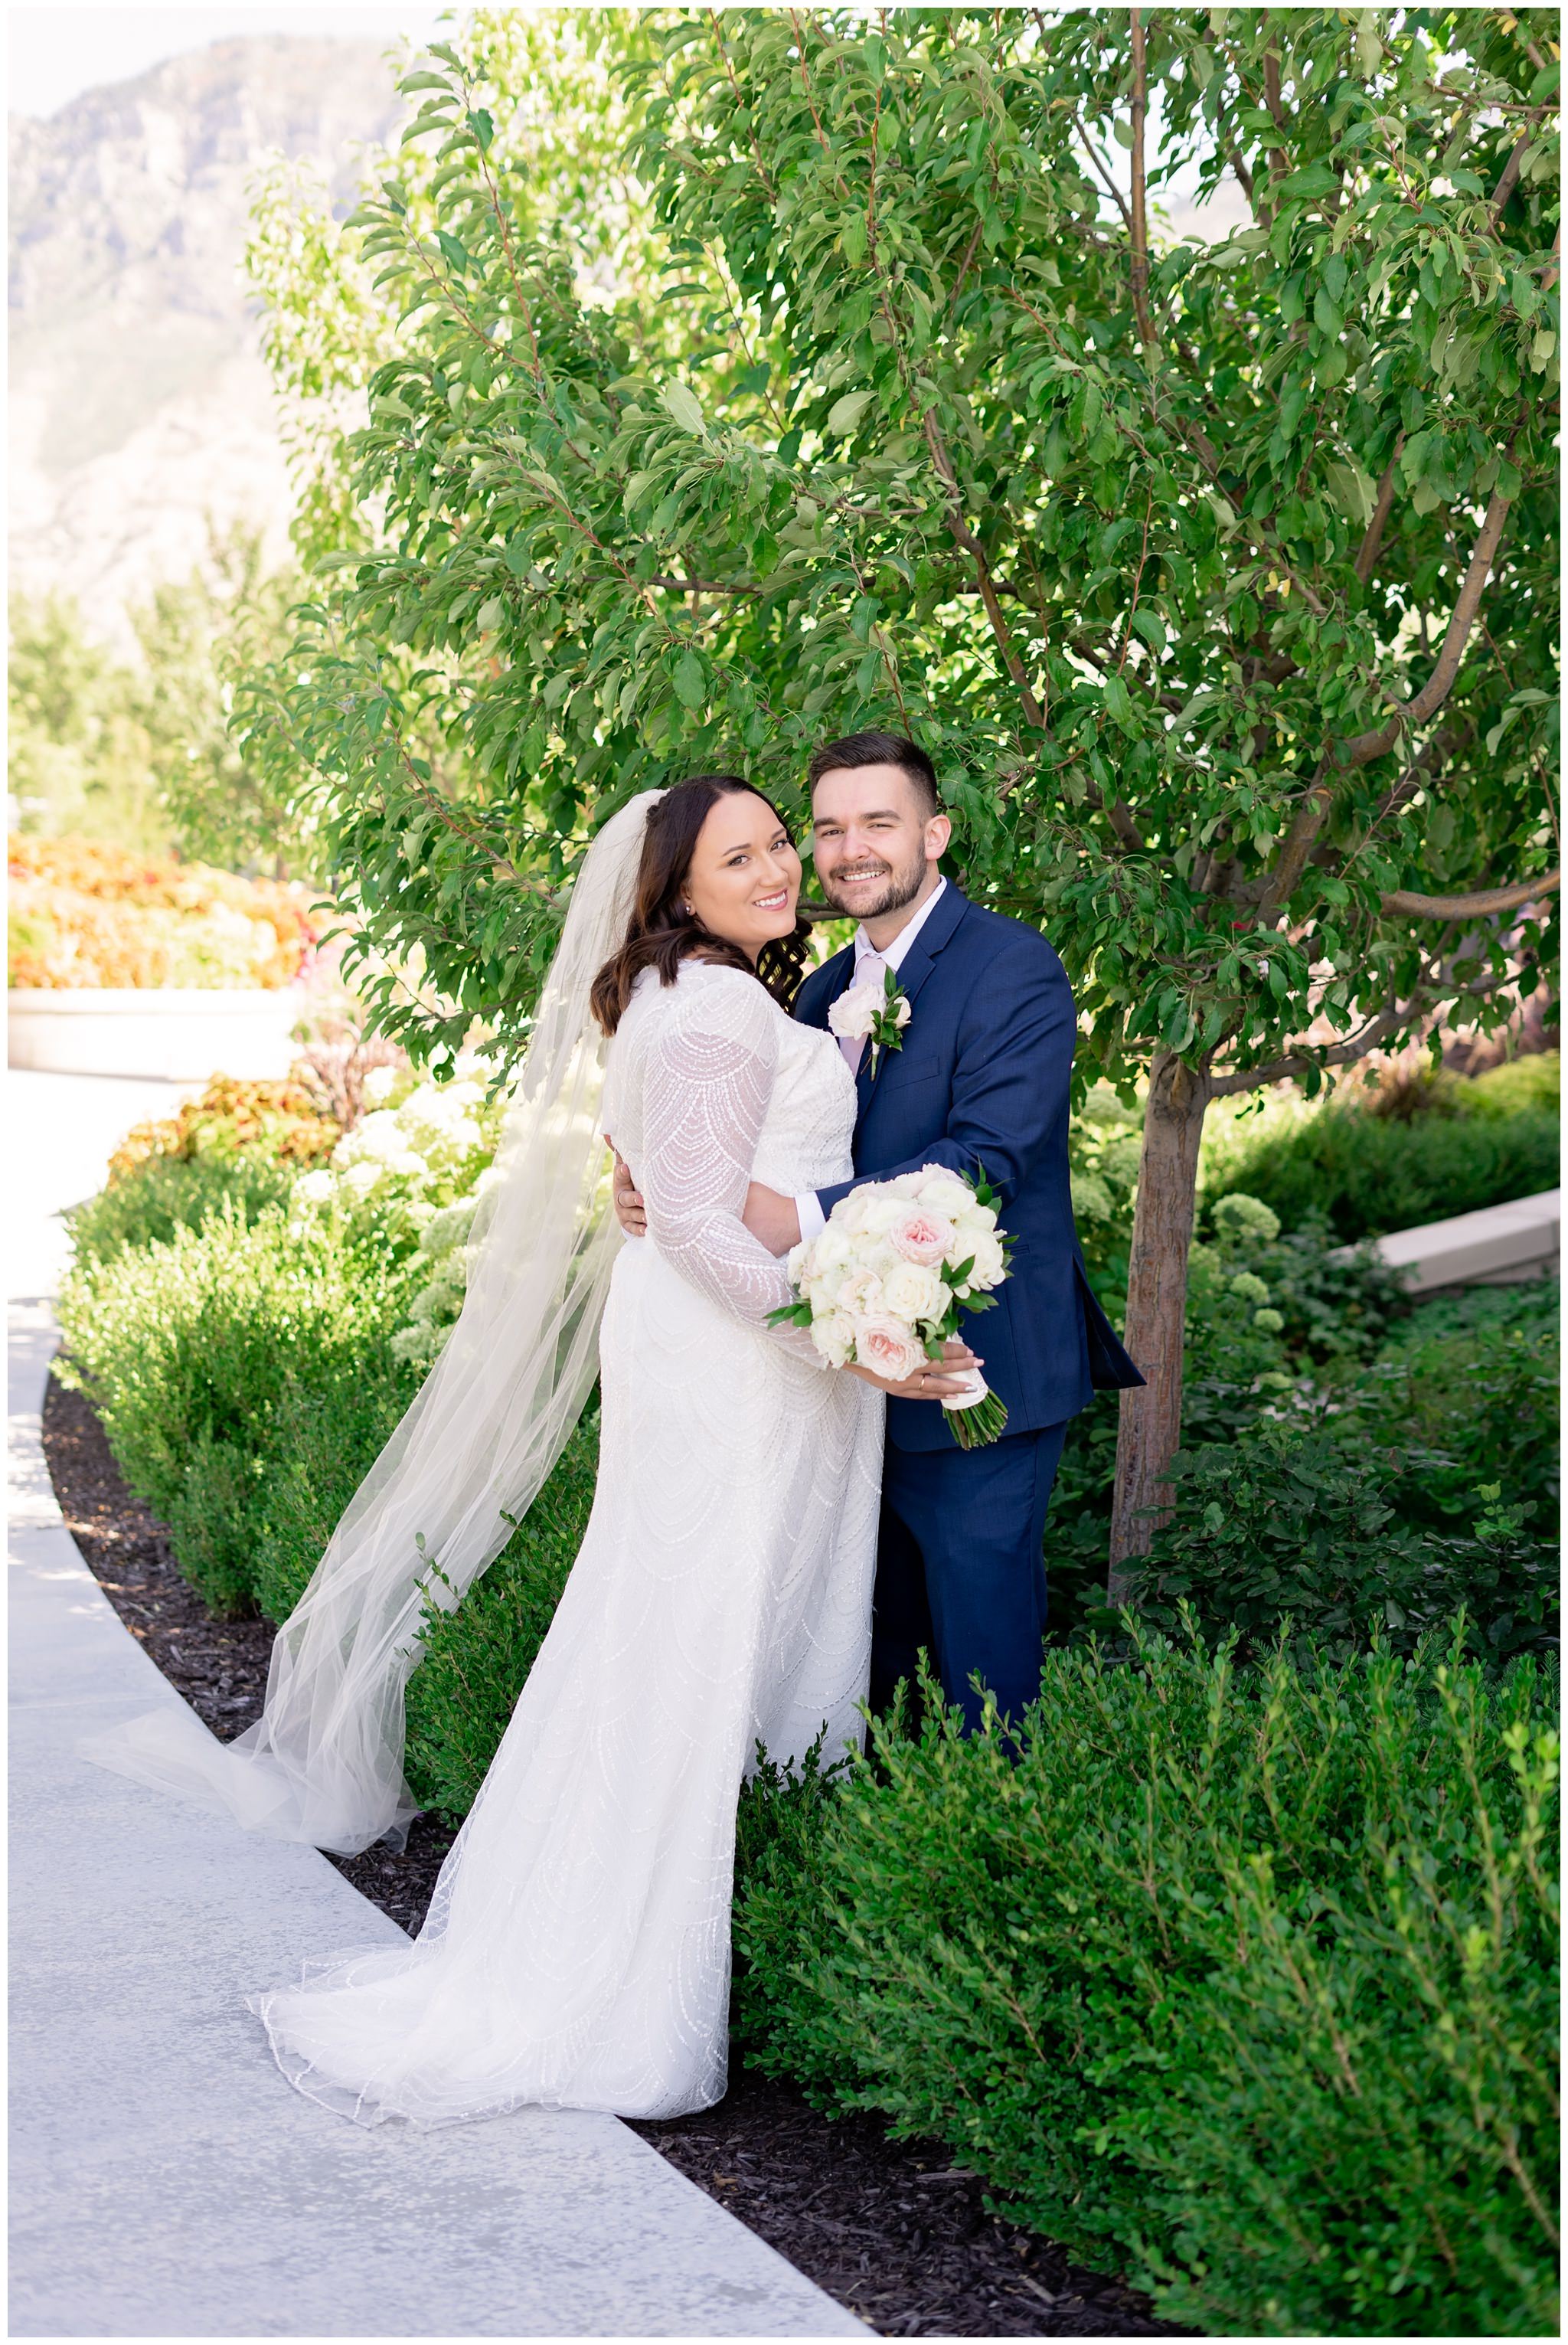
[[[1554,1780],[1432,1644],[1052,1653],[1017,1749],[926,1686],[743,1878],[738,2035],[1170,2319],[1554,2333]]]

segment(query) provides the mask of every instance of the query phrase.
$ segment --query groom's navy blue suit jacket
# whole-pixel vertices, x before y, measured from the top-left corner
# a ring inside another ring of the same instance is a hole
[[[795,1015],[827,1027],[853,973],[846,947],[806,978]],[[898,987],[909,1001],[905,1044],[879,1051],[874,1074],[870,1048],[860,1060],[855,1180],[823,1189],[823,1212],[865,1180],[923,1163],[984,1168],[1017,1245],[996,1306],[970,1318],[963,1337],[1008,1407],[1008,1433],[1057,1426],[1097,1386],[1144,1381],[1095,1301],[1073,1229],[1066,1116],[1078,1020],[1066,971],[1038,929],[982,910],[949,882]],[[956,1447],[947,1414],[928,1400],[891,1400],[888,1440]]]

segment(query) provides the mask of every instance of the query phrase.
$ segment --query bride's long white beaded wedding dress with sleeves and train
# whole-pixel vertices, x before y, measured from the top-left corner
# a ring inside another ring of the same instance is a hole
[[[736,1796],[762,1742],[858,1733],[881,1395],[771,1332],[745,1187],[851,1172],[832,1036],[755,978],[647,971],[605,1126],[647,1198],[600,1330],[600,1480],[560,1611],[408,1949],[253,2000],[300,2092],[375,2125],[724,2092]]]

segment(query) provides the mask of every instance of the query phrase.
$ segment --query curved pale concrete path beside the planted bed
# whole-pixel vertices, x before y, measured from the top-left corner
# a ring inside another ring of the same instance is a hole
[[[12,1076],[9,2333],[865,2336],[614,2118],[361,2132],[300,2099],[246,1991],[396,1923],[314,1850],[75,1756],[178,1700],[77,1555],[38,1442],[61,1257],[42,1208],[94,1189],[169,1095],[94,1083]]]

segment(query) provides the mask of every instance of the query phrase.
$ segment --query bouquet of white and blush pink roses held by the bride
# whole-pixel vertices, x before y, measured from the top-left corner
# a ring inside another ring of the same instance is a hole
[[[1008,1276],[1013,1238],[996,1226],[998,1196],[984,1180],[921,1165],[865,1182],[839,1198],[825,1229],[790,1252],[792,1304],[776,1325],[806,1327],[834,1367],[855,1362],[902,1384],[940,1360],[959,1311],[989,1311]],[[984,1377],[945,1400],[961,1449],[994,1442],[1008,1412]]]

